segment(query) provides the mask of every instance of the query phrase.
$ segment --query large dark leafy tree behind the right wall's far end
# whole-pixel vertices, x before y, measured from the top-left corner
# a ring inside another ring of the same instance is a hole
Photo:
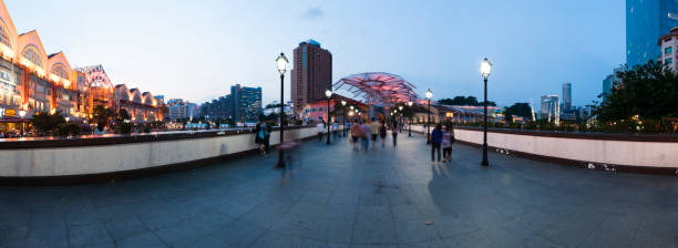
[[[678,76],[670,68],[649,61],[617,78],[620,81],[594,111],[598,121],[651,120],[666,128],[666,118],[678,117]]]

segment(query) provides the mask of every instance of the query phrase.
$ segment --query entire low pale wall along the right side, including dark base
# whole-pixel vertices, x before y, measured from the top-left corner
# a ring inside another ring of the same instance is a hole
[[[425,133],[423,126],[413,131]],[[482,145],[482,128],[456,127],[458,141]],[[587,168],[677,174],[678,136],[490,130],[487,146],[507,155]]]

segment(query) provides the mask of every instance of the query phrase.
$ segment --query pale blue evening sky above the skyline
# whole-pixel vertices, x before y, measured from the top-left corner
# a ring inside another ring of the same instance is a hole
[[[430,87],[434,99],[481,99],[479,63],[487,56],[489,97],[500,105],[562,95],[563,82],[573,83],[575,105],[588,104],[626,60],[620,0],[4,1],[18,31],[37,29],[48,53],[194,102],[235,83],[261,86],[264,103],[276,100],[275,58],[291,59],[307,39],[332,53],[335,82],[383,71],[420,95]]]

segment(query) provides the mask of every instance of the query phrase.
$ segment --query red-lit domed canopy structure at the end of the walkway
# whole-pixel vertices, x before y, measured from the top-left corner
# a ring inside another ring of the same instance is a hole
[[[332,85],[335,91],[343,89],[367,104],[393,105],[417,100],[415,86],[399,75],[386,72],[366,72],[346,76]]]

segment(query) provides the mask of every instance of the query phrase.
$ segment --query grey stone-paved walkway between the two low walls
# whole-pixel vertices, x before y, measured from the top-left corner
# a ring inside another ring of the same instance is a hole
[[[389,141],[390,142],[390,141]],[[0,187],[0,247],[678,247],[678,180],[454,145],[420,135],[356,153],[311,140],[280,184],[249,156],[99,185]],[[92,162],[96,166],[96,162]]]

